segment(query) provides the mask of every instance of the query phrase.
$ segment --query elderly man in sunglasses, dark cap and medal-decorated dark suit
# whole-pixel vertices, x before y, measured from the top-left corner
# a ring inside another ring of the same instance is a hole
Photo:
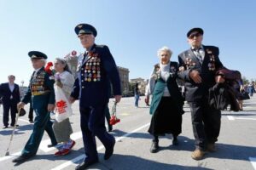
[[[187,33],[191,48],[178,55],[178,76],[185,81],[185,98],[191,110],[196,148],[191,157],[195,160],[201,160],[206,151],[215,151],[221,112],[210,108],[208,89],[216,82],[224,82],[223,77],[215,76],[218,68],[223,67],[218,48],[202,45],[203,33],[201,28],[191,29]]]

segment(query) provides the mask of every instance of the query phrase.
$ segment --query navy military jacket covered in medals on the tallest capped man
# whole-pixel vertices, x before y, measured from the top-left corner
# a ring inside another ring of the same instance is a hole
[[[71,96],[80,107],[104,105],[109,99],[109,82],[113,94],[121,95],[119,71],[108,46],[94,44],[79,68]]]

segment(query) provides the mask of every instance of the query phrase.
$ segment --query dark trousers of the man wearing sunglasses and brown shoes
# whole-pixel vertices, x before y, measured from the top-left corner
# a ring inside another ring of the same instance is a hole
[[[207,101],[189,102],[195,146],[200,150],[205,150],[207,143],[214,144],[220,131],[221,112],[210,108]]]

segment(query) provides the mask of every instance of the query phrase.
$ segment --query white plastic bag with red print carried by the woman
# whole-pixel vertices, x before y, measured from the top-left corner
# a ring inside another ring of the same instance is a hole
[[[72,116],[71,104],[66,98],[64,92],[61,88],[55,86],[55,120],[57,122],[62,122],[67,119],[69,116]]]

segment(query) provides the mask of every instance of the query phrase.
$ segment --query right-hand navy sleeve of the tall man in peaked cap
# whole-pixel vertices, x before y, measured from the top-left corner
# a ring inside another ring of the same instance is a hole
[[[103,47],[102,64],[113,86],[113,95],[121,95],[120,77],[113,56],[107,46]]]

